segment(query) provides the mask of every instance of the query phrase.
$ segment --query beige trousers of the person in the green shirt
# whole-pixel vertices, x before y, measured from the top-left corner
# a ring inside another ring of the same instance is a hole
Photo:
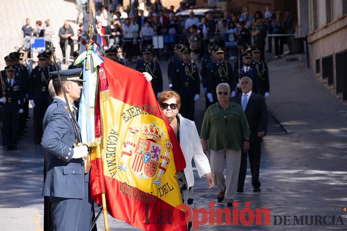
[[[227,179],[224,178],[224,158],[227,161]],[[225,198],[235,199],[237,191],[238,174],[241,163],[241,150],[223,149],[213,151],[210,149],[211,170],[218,192],[225,190]]]

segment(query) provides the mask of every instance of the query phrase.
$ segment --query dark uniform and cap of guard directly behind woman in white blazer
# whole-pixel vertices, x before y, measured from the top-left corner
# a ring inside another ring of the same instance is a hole
[[[187,47],[181,54],[190,52]],[[172,90],[177,91],[181,97],[179,113],[194,121],[194,96],[200,94],[200,78],[197,65],[191,59],[188,63],[183,60],[176,63],[171,72]]]

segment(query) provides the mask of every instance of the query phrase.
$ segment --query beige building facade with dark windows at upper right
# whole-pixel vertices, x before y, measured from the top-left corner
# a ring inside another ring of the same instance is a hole
[[[347,105],[347,1],[297,0],[299,37],[307,35],[310,66]]]

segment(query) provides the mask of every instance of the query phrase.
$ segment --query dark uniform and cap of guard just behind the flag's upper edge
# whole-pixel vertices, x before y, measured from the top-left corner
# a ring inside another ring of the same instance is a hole
[[[150,54],[153,53],[153,51],[149,47],[146,47],[142,54],[146,53]],[[158,61],[153,60],[146,63],[142,59],[137,63],[135,70],[139,72],[148,72],[150,75],[152,75],[152,88],[156,97],[158,92],[163,91],[163,77]]]

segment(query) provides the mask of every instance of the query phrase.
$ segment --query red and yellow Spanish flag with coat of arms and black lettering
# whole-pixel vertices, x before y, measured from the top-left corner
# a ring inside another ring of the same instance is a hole
[[[116,219],[143,230],[187,230],[177,172],[186,166],[179,143],[138,71],[105,60],[98,69],[90,191]]]

